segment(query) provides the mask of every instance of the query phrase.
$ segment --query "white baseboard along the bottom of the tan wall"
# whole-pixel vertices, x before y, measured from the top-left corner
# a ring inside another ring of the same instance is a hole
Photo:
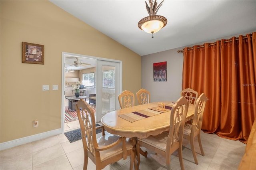
[[[24,137],[24,138],[10,140],[8,142],[0,143],[0,150],[12,148],[14,146],[18,146],[18,145],[21,145],[21,144],[26,144],[26,143],[29,143],[29,142],[34,142],[36,140],[40,140],[40,139],[43,139],[43,138],[48,138],[50,136],[54,136],[54,135],[57,135],[57,134],[61,134],[61,129],[60,128],[55,129],[55,130],[51,130],[51,131],[48,131],[48,132],[35,134],[35,135],[32,135],[32,136],[27,136],[27,137]]]

